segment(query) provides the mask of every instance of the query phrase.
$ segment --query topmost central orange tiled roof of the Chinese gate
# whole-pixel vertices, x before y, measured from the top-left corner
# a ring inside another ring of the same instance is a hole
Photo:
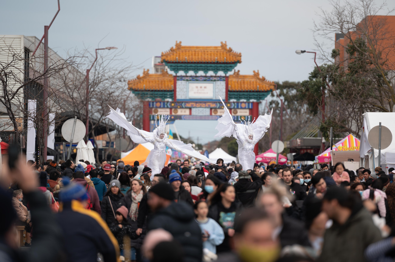
[[[220,46],[182,46],[181,41],[175,47],[162,52],[162,62],[169,63],[241,63],[241,53],[233,51],[225,43]]]

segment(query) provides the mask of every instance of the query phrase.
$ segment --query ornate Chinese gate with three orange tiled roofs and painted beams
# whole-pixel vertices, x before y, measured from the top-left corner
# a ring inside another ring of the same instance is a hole
[[[241,63],[241,53],[226,42],[220,46],[182,46],[176,42],[175,47],[162,52],[160,61],[154,65],[158,69],[154,72],[159,73],[150,74],[144,69],[142,76],[128,81],[128,89],[143,100],[143,129],[147,131],[154,129],[155,115],[169,115],[167,123],[177,119],[217,120],[224,113],[218,96],[234,121],[258,117],[261,100],[275,88],[259,71],[251,75],[236,70],[231,73]],[[177,75],[180,71],[193,71],[195,75]],[[207,76],[210,71],[225,75]],[[258,144],[254,151],[258,154]]]

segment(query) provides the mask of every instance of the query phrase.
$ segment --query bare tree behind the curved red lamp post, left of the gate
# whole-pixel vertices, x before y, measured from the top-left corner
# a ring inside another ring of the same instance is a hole
[[[94,62],[95,54],[89,50],[86,48],[68,52],[69,55],[74,54],[74,56],[80,57],[78,63],[83,64],[78,68],[80,72],[85,72]],[[130,91],[127,90],[126,84],[127,79],[131,78],[138,67],[126,61],[123,56],[124,49],[110,52],[104,50],[99,53],[98,59],[90,70],[88,92],[85,74],[64,72],[61,76],[62,82],[72,83],[63,90],[62,102],[68,105],[70,114],[78,115],[84,121],[88,116],[90,124],[88,137],[93,138],[96,146],[98,134],[107,134],[110,141],[120,137],[118,126],[115,126],[111,120],[105,119],[109,113],[108,106],[125,110],[129,121],[134,121],[141,114],[139,100],[133,94],[129,94]],[[111,132],[111,130],[115,130],[115,132]],[[105,150],[105,157],[109,152],[111,152],[110,148]],[[96,150],[96,161],[99,161],[98,150]]]

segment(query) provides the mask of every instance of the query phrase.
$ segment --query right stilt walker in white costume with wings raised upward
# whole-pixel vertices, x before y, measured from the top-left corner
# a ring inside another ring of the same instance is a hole
[[[243,170],[253,169],[255,163],[254,147],[261,138],[267,132],[267,128],[270,127],[271,115],[260,115],[258,119],[250,122],[248,117],[248,122],[244,121],[241,124],[236,124],[233,121],[231,114],[222,98],[220,97],[222,104],[224,105],[225,113],[218,119],[218,124],[215,127],[218,130],[218,134],[214,138],[221,138],[227,136],[230,138],[233,136],[237,139],[237,144],[239,145],[239,163],[243,166]]]

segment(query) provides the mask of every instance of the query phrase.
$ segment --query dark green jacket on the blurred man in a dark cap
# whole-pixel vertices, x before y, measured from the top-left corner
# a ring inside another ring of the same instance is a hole
[[[332,227],[325,232],[324,246],[317,261],[367,261],[365,249],[381,239],[380,230],[373,224],[369,211],[359,208],[344,225],[333,221]]]

